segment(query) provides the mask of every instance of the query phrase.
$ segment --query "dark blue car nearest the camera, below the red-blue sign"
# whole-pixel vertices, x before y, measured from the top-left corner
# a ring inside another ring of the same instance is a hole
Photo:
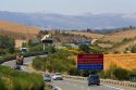
[[[100,78],[98,75],[89,75],[89,77],[87,78],[88,80],[88,86],[90,85],[100,85]]]

